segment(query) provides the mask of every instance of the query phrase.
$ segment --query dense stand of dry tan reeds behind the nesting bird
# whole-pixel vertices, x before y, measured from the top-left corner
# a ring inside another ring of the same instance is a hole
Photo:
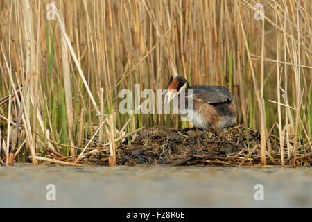
[[[80,153],[37,133],[83,147],[103,123],[101,114],[114,116],[113,129],[105,124],[96,135],[103,142],[142,126],[187,126],[174,115],[118,112],[121,89],[163,89],[177,74],[192,85],[229,87],[239,123],[261,132],[263,153],[285,150],[281,164],[311,152],[310,1],[261,1],[264,21],[254,19],[254,1],[245,0],[55,1],[58,16],[48,20],[53,2],[0,3],[0,99],[28,88],[20,102],[9,98],[0,106],[1,146],[7,150],[16,137],[16,161],[31,153],[36,163],[46,144],[64,156]],[[280,146],[266,139],[268,131]]]

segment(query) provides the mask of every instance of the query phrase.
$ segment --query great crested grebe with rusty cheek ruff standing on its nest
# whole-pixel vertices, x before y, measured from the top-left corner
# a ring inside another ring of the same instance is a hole
[[[174,79],[171,76],[166,89],[164,108],[175,96],[185,96],[185,108],[188,117],[196,128],[204,130],[211,126],[223,128],[233,126],[236,123],[236,104],[227,87],[189,86],[187,80],[182,76],[177,76]],[[185,93],[182,93],[183,91]],[[188,107],[189,100],[193,102],[192,107]],[[179,105],[181,106],[181,104]],[[185,114],[180,115],[185,117]]]

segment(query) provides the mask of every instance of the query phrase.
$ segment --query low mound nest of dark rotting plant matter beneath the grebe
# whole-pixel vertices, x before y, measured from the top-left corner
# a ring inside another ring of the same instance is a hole
[[[199,135],[200,149],[197,146],[196,130],[146,128],[131,144],[124,141],[117,146],[116,164],[260,166],[260,135],[257,131],[236,126],[199,131]],[[270,140],[272,152],[267,152],[267,164],[276,166],[280,164],[279,150],[275,149],[279,141],[272,137]],[[306,160],[307,165],[311,164],[309,157]],[[96,162],[108,164],[107,158]],[[295,162],[291,165],[295,165]]]

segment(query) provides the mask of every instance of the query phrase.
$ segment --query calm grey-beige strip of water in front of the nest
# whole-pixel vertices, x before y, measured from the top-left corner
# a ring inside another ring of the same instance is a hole
[[[0,167],[0,181],[0,207],[312,207],[309,168]]]

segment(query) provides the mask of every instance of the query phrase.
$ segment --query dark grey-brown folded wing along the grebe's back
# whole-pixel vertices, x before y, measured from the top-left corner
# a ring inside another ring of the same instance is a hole
[[[224,103],[233,99],[229,89],[224,86],[193,85],[189,89],[193,89],[194,96],[206,103]]]

